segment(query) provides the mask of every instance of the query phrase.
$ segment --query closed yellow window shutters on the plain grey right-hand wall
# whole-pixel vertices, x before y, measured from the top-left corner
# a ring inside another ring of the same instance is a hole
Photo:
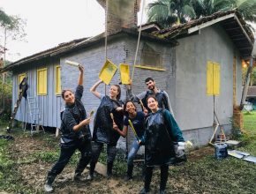
[[[220,64],[207,62],[207,95],[220,94]]]

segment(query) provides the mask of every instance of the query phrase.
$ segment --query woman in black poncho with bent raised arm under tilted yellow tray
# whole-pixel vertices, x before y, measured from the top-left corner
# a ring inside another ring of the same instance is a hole
[[[109,95],[103,95],[96,91],[96,88],[102,83],[102,80],[97,81],[91,87],[90,92],[101,100],[101,104],[97,109],[94,118],[94,149],[93,157],[90,163],[90,174],[87,179],[94,177],[95,165],[102,152],[103,144],[107,144],[107,175],[112,175],[113,162],[117,155],[117,140],[120,135],[113,129],[113,123],[117,123],[119,129],[123,129],[124,115],[122,101],[120,101],[121,88],[118,85],[110,87]],[[113,119],[111,118],[113,116]]]

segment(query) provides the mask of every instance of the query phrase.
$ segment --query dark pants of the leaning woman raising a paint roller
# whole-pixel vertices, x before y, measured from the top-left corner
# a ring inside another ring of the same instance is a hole
[[[51,168],[48,175],[54,177],[59,175],[72,158],[72,155],[75,153],[76,149],[79,149],[81,156],[75,173],[81,174],[92,158],[92,145],[90,140],[78,140],[72,146],[62,145],[59,159],[53,168]]]

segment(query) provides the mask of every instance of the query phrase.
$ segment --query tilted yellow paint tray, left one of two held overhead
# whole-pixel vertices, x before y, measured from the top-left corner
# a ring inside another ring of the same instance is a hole
[[[109,85],[111,79],[114,77],[117,71],[117,65],[110,62],[109,59],[106,60],[102,67],[102,71],[99,74],[99,78],[106,84]]]

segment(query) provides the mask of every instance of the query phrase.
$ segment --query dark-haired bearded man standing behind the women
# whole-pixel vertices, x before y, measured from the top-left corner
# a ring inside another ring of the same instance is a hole
[[[155,86],[155,82],[153,78],[146,78],[145,84],[147,86],[147,91],[143,93],[139,93],[137,95],[132,93],[132,83],[129,86],[128,85],[128,95],[132,101],[136,101],[139,103],[139,100],[142,101],[144,108],[147,108],[148,112],[151,112],[151,110],[147,107],[147,97],[150,95],[154,95],[156,100],[158,101],[159,108],[165,108],[168,109],[172,116],[173,110],[169,103],[169,95],[164,90],[160,90]]]

